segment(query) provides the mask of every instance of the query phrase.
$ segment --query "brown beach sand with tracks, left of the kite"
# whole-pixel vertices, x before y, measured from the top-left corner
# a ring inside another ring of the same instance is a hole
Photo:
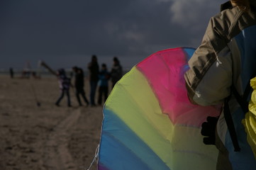
[[[1,75],[0,80],[1,170],[89,168],[99,145],[102,106],[79,107],[72,89],[72,108],[67,98],[55,106],[60,95],[55,77]],[[88,80],[84,89],[89,98]]]

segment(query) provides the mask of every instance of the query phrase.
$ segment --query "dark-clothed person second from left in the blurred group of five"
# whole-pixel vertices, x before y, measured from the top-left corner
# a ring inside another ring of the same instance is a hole
[[[77,101],[79,103],[79,106],[82,106],[80,96],[84,99],[84,102],[87,103],[87,106],[89,105],[89,101],[87,100],[87,97],[85,96],[84,92],[84,72],[83,69],[78,67],[72,68],[74,71],[74,87],[76,88],[76,96]]]

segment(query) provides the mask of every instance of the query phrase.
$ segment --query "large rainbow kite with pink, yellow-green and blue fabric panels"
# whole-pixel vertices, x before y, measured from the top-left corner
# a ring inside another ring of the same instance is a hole
[[[162,50],[118,81],[104,106],[99,170],[216,169],[201,123],[218,108],[189,102],[184,81],[193,48]]]

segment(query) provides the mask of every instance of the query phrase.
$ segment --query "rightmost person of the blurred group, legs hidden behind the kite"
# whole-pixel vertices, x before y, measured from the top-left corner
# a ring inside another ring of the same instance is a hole
[[[111,81],[112,88],[115,86],[116,82],[123,76],[123,68],[117,57],[113,57],[113,66],[111,69]]]

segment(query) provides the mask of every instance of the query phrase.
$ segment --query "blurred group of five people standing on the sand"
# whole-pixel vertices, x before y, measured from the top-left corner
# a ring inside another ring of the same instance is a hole
[[[91,56],[91,62],[88,64],[89,69],[89,85],[90,85],[90,94],[89,100],[87,99],[86,93],[84,91],[84,71],[82,68],[77,66],[72,67],[74,72],[74,88],[75,94],[79,106],[82,106],[80,96],[82,96],[86,106],[96,106],[95,95],[96,89],[99,85],[99,96],[97,104],[102,105],[103,101],[106,101],[108,98],[108,81],[111,79],[112,88],[115,86],[116,82],[121,79],[123,76],[123,69],[117,57],[113,57],[113,66],[111,72],[108,72],[106,64],[101,64],[101,69],[99,69],[99,64],[97,61],[96,55]],[[71,101],[69,96],[69,87],[72,86],[71,79],[67,77],[64,69],[58,69],[57,78],[59,79],[60,84],[60,97],[57,99],[55,105],[60,106],[60,101],[66,95],[67,96],[67,106],[71,107]],[[103,100],[104,99],[104,100]]]

